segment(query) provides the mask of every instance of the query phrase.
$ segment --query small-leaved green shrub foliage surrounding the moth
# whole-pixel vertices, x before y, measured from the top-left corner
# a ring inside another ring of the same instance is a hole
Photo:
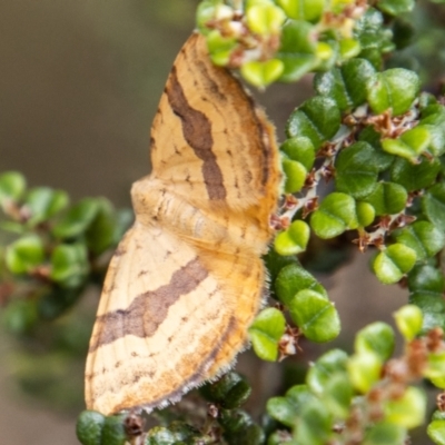
[[[200,389],[208,408],[198,418],[167,408],[155,414],[159,426],[145,432],[132,413],[83,412],[77,425],[83,445],[404,444],[426,421],[422,379],[438,393],[427,434],[445,443],[445,106],[397,62],[413,42],[414,6],[204,0],[197,10],[212,61],[239,69],[254,86],[315,72],[315,95],[291,112],[280,146],[284,199],[265,258],[275,306],[249,328],[254,350],[283,360],[297,353],[300,337],[325,343],[339,334],[339,315],[305,254],[315,239],[328,256],[328,240],[355,238],[360,251],[374,250],[377,280],[407,288],[408,304],[394,314],[403,353],[393,356],[395,333],[376,322],[357,333],[353,354],[328,350],[304,382],[269,398],[259,423],[241,409],[249,384],[228,373]],[[42,323],[101,283],[103,257],[128,214],[102,198],[70,206],[66,192],[27,189],[13,171],[0,176],[0,205],[1,229],[10,234],[1,251],[2,324],[17,337],[40,338]]]

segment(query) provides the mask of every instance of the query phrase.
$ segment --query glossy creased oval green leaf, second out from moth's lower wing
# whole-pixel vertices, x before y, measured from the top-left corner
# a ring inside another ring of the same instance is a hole
[[[313,342],[329,342],[340,332],[340,320],[334,304],[314,290],[300,290],[295,295],[289,312],[295,324]]]

